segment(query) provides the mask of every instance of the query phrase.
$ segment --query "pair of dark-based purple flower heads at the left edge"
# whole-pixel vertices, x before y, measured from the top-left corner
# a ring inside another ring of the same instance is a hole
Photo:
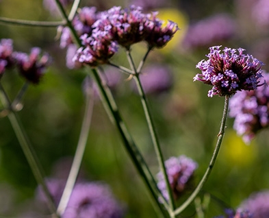
[[[0,77],[6,68],[17,66],[19,72],[26,80],[38,84],[44,69],[51,62],[47,53],[41,56],[41,49],[34,47],[31,53],[13,51],[13,42],[11,39],[0,40]]]

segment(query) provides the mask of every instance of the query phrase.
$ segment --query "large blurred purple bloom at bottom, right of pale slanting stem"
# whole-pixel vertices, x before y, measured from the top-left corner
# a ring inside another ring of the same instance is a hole
[[[102,183],[76,184],[63,218],[120,218],[125,211]]]

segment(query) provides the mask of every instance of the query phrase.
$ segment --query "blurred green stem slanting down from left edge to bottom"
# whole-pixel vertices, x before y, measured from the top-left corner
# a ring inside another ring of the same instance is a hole
[[[34,149],[31,147],[31,143],[29,142],[29,139],[27,138],[27,135],[23,130],[23,125],[21,124],[18,115],[11,108],[10,99],[8,98],[8,95],[5,93],[5,90],[3,89],[1,83],[0,83],[0,92],[2,94],[0,95],[0,97],[3,105],[6,108],[10,108],[10,112],[8,113],[8,119],[10,119],[10,123],[12,125],[12,128],[14,129],[16,137],[18,138],[18,142],[20,143],[21,148],[23,149],[23,153],[25,154],[25,157],[29,163],[29,166],[31,167],[31,171],[34,174],[36,181],[38,182],[38,184],[42,186],[44,195],[47,197],[48,200],[47,204],[49,206],[49,210],[51,211],[51,213],[53,213],[53,217],[59,217],[57,215],[51,194],[49,193],[49,189],[47,188],[47,185],[44,182],[44,173],[40,165],[40,162],[38,162],[36,153],[34,152]]]

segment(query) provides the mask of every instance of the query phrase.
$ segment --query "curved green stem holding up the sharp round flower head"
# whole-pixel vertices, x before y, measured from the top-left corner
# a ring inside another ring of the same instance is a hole
[[[201,189],[203,188],[203,185],[205,184],[205,182],[209,178],[210,173],[212,172],[212,169],[213,169],[214,164],[216,162],[216,158],[218,156],[218,152],[220,150],[222,138],[225,134],[225,123],[227,120],[228,108],[229,108],[229,97],[225,96],[225,106],[224,106],[224,110],[223,110],[222,120],[220,123],[220,132],[218,133],[218,141],[216,143],[216,147],[214,149],[214,153],[212,155],[212,158],[209,162],[209,166],[207,167],[207,170],[205,171],[205,174],[203,175],[202,180],[199,182],[196,189],[192,192],[192,195],[190,195],[190,197],[188,197],[188,199],[183,204],[181,204],[181,206],[179,208],[177,208],[175,210],[175,215],[178,215],[179,213],[181,213],[183,210],[185,210],[185,208],[187,208],[190,205],[190,203],[194,200],[194,198],[201,191]]]

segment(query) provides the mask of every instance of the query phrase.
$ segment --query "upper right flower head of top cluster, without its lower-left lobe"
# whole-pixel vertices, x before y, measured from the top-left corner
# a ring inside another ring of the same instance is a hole
[[[111,39],[119,45],[129,48],[135,43],[146,41],[150,47],[163,47],[177,32],[177,25],[156,18],[157,12],[142,13],[141,7],[131,5],[129,8],[113,7],[101,13],[101,18],[92,25],[93,32],[107,31]]]

